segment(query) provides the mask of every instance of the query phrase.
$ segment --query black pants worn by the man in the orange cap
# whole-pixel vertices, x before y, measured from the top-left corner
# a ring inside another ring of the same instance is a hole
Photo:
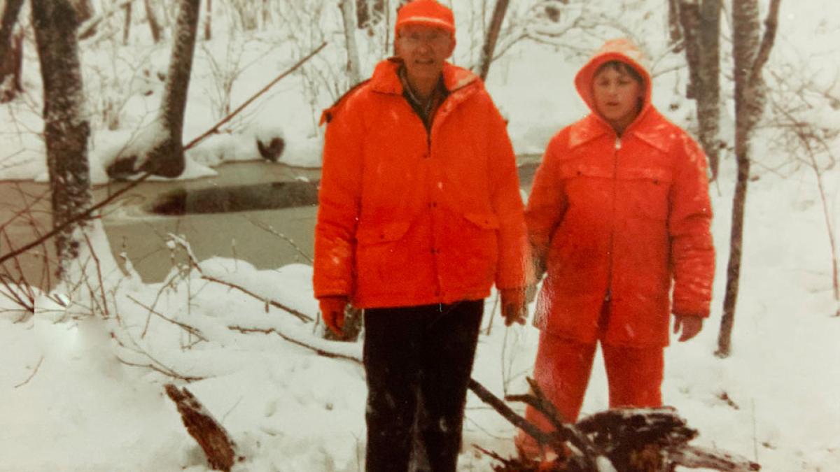
[[[483,301],[365,310],[367,472],[454,472],[483,312]]]

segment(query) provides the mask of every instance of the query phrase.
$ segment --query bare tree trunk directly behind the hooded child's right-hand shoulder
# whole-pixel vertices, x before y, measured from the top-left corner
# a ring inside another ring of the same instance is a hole
[[[712,178],[717,177],[720,148],[720,12],[721,0],[671,0],[678,2],[682,44],[690,82],[686,96],[697,102],[699,138],[709,159]]]

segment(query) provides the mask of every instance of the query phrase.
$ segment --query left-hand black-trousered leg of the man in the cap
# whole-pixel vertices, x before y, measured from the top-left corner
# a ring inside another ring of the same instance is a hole
[[[416,308],[365,310],[367,472],[408,470],[422,333]]]

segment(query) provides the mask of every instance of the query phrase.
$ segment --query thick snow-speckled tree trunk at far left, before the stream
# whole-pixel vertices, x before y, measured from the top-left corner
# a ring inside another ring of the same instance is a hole
[[[84,92],[79,66],[76,29],[80,22],[67,0],[33,0],[32,19],[41,76],[44,80],[44,137],[50,173],[53,227],[76,218],[91,203],[87,163],[90,124],[81,113]],[[80,219],[57,234],[58,276],[79,255],[76,231],[86,228]]]

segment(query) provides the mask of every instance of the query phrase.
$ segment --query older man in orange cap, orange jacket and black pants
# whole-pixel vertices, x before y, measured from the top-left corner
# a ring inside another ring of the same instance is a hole
[[[525,317],[515,158],[480,79],[446,61],[454,32],[440,3],[402,6],[396,57],[324,113],[315,296],[336,333],[365,309],[368,471],[407,470],[416,444],[454,471],[491,286],[507,324]]]

